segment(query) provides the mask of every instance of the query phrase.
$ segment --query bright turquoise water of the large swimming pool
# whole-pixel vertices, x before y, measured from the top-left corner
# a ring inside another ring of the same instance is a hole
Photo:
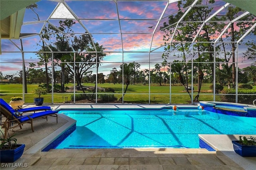
[[[255,117],[198,109],[61,110],[77,120],[76,130],[56,149],[199,148],[198,134],[256,134]]]

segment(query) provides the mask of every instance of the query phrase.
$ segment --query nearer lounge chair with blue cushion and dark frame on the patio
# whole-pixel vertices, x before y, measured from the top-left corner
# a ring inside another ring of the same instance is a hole
[[[56,117],[56,122],[58,123],[58,111],[48,110],[23,115],[22,112],[14,112],[13,110],[8,109],[8,107],[4,107],[1,103],[0,112],[1,115],[4,115],[4,117],[6,117],[5,126],[7,129],[10,129],[12,122],[17,123],[17,125],[12,126],[12,129],[18,126],[20,127],[20,129],[22,129],[21,125],[23,125],[24,123],[30,123],[31,129],[34,132],[33,120],[46,117],[46,121],[48,121],[48,116]]]

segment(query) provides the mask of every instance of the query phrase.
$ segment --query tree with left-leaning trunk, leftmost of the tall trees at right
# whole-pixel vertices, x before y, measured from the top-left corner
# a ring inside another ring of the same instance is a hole
[[[182,4],[183,2],[178,2],[178,8],[181,9],[181,6],[188,6],[192,4],[192,1],[187,1],[186,4]],[[166,35],[163,36],[163,40],[169,42],[170,39],[175,39],[176,41],[180,43],[170,43],[167,44],[165,42],[166,47],[164,47],[164,53],[162,54],[162,59],[166,61],[168,57],[171,57],[172,54],[174,57],[181,58],[181,61],[175,60],[172,65],[171,72],[177,72],[179,74],[179,81],[180,83],[185,87],[187,90],[188,94],[190,92],[188,91],[188,72],[187,72],[187,64],[186,64],[186,58],[189,57],[190,55],[190,48],[191,44],[190,43],[183,43],[186,41],[192,41],[192,35],[193,33],[191,32],[192,30],[189,29],[189,25],[186,23],[180,23],[180,26],[174,32],[175,25],[173,23],[176,23],[181,16],[183,16],[182,10],[178,12],[176,16],[169,16],[168,23],[164,23],[164,25],[161,27],[161,29],[165,32]],[[195,25],[192,25],[195,26]],[[172,37],[173,36],[173,37]],[[174,51],[178,51],[178,53],[172,53]],[[175,63],[177,62],[177,63]],[[174,68],[173,68],[174,67]],[[185,77],[185,82],[183,79],[183,73]],[[191,98],[191,95],[190,95]]]

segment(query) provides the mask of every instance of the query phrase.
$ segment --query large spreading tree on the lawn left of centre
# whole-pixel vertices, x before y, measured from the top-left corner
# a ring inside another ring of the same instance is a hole
[[[61,67],[61,87],[62,92],[64,92],[65,84],[65,71],[71,76],[75,76],[78,86],[82,87],[82,79],[87,74],[90,74],[90,69],[96,67],[96,72],[98,72],[98,67],[100,61],[104,56],[106,56],[104,47],[98,43],[92,42],[90,35],[82,34],[80,36],[74,35],[72,30],[73,25],[75,24],[72,20],[59,21],[60,26],[58,29],[48,25],[48,29],[52,30],[53,35],[56,37],[56,41],[50,46],[54,51],[67,51],[67,53],[54,53],[54,59],[57,60],[58,65]],[[59,32],[62,31],[66,35]],[[67,40],[66,36],[71,41]],[[75,61],[74,53],[68,53],[68,51],[75,52]],[[75,65],[74,65],[75,62]],[[83,93],[85,93],[82,88]],[[95,88],[96,90],[96,84]],[[86,95],[84,95],[86,96]],[[86,97],[87,98],[87,97]]]

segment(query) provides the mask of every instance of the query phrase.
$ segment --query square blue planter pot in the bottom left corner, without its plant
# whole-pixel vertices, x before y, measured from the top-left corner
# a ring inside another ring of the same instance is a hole
[[[25,145],[24,144],[18,144],[18,148],[14,150],[1,150],[0,152],[0,162],[14,162],[20,156],[22,156],[24,152]]]

